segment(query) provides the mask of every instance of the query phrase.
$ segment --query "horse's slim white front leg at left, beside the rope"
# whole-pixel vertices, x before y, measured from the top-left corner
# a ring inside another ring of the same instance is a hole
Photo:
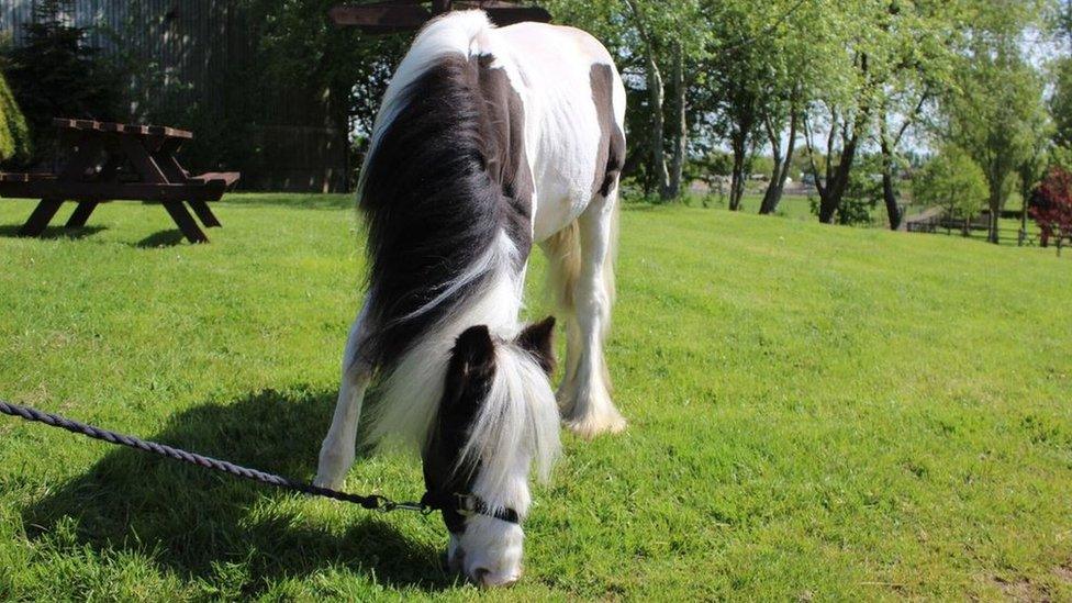
[[[357,424],[361,420],[365,390],[372,378],[372,365],[361,355],[361,348],[369,337],[369,321],[362,310],[350,326],[350,334],[346,339],[335,416],[320,449],[320,465],[314,483],[322,488],[339,488],[346,472],[354,465]]]

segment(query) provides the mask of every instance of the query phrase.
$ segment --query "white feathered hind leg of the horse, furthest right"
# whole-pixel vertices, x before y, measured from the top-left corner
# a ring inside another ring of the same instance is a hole
[[[615,187],[616,188],[616,187]],[[582,437],[616,433],[625,418],[611,401],[611,378],[603,343],[614,302],[614,237],[617,191],[596,197],[578,217],[580,266],[567,308],[566,377],[559,404],[567,426]]]

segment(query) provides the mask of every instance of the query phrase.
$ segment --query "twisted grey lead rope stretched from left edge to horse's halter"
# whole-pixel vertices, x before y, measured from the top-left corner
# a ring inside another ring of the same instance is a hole
[[[359,504],[364,509],[368,509],[370,511],[389,513],[391,511],[403,510],[403,511],[416,511],[423,515],[427,515],[428,513],[432,513],[433,511],[440,509],[439,506],[433,506],[431,504],[426,504],[425,502],[400,503],[400,502],[394,502],[391,499],[388,499],[387,496],[381,496],[379,494],[369,494],[367,496],[362,496],[360,494],[339,492],[337,490],[332,490],[330,488],[321,488],[319,485],[313,485],[311,483],[290,480],[282,476],[276,476],[273,473],[266,473],[265,471],[258,471],[256,469],[239,467],[233,462],[227,462],[225,460],[217,460],[194,453],[188,453],[186,450],[172,448],[171,446],[166,446],[164,444],[157,444],[155,442],[146,442],[144,439],[134,436],[118,434],[115,432],[109,432],[108,429],[101,429],[100,427],[94,427],[92,425],[86,425],[85,423],[71,421],[67,417],[59,416],[58,414],[46,413],[46,412],[38,411],[36,409],[20,406],[19,404],[11,404],[10,402],[4,402],[3,400],[0,400],[0,413],[8,414],[11,416],[18,416],[19,418],[24,418],[31,422],[44,423],[53,427],[67,429],[68,432],[81,434],[83,436],[108,442],[110,444],[115,444],[119,446],[127,446],[130,448],[144,450],[146,453],[152,453],[154,455],[159,455],[161,457],[167,457],[175,460],[181,460],[183,462],[189,462],[191,465],[205,467],[208,469],[213,469],[215,471],[222,471],[224,473],[230,473],[238,478],[243,478],[243,479],[247,479],[260,483],[267,483],[269,485],[275,485],[276,488],[281,488],[283,490],[301,492],[302,494],[308,494],[310,496],[324,496],[327,499],[334,499],[336,501]]]

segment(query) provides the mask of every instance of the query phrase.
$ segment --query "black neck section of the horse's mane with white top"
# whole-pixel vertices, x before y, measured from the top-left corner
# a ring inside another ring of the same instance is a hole
[[[493,172],[501,149],[480,93],[479,60],[469,56],[491,25],[483,13],[461,16],[434,22],[414,42],[384,96],[361,170],[369,316],[378,334],[369,351],[381,367],[488,288],[498,267],[524,263],[532,245],[528,224],[518,227],[516,204],[504,200],[514,183]]]

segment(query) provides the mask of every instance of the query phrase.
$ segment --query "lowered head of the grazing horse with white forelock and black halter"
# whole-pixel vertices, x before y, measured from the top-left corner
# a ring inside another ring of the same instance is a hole
[[[425,485],[448,501],[443,511],[450,532],[448,563],[481,585],[509,585],[521,578],[520,521],[531,501],[529,467],[535,462],[546,478],[559,453],[558,409],[548,380],[554,327],[548,317],[513,340],[496,339],[483,325],[458,336],[424,446]],[[453,509],[449,502],[459,495],[481,512]],[[500,518],[511,511],[517,522]]]

